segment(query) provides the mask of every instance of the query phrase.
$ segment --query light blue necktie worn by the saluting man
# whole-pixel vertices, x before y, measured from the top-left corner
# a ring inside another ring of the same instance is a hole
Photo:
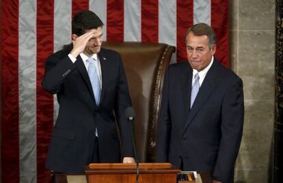
[[[94,92],[94,98],[96,104],[99,104],[100,100],[100,81],[98,78],[98,73],[96,71],[96,66],[94,65],[94,59],[92,57],[87,59],[88,67],[87,72],[88,76],[90,76],[90,82],[92,83],[92,91]]]

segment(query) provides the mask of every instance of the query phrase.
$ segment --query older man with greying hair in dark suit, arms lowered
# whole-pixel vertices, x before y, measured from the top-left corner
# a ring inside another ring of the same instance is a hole
[[[188,62],[167,69],[156,158],[185,171],[208,171],[213,182],[233,182],[243,133],[243,83],[213,57],[215,42],[211,27],[193,25],[186,34]]]

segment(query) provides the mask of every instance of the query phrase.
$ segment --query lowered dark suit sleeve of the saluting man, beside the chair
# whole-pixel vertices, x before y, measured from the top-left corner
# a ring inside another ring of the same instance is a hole
[[[118,119],[118,126],[120,127],[120,134],[122,139],[122,147],[124,157],[133,157],[133,141],[131,137],[130,122],[126,120],[124,111],[127,107],[131,107],[131,98],[129,88],[126,81],[126,74],[122,64],[121,56],[119,56],[119,76],[118,76],[118,92],[116,96],[115,111]]]

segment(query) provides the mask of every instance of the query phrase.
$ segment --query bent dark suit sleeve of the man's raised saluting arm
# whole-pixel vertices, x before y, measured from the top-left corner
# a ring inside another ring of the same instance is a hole
[[[57,94],[66,77],[75,69],[68,55],[59,59],[54,54],[46,59],[42,87],[51,94]]]

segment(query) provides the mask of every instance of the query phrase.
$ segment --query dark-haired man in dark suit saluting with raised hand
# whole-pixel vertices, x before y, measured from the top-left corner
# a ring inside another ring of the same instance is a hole
[[[72,20],[72,44],[46,60],[42,87],[57,94],[59,114],[46,167],[59,173],[82,173],[89,163],[135,163],[131,126],[124,110],[131,98],[120,54],[100,48],[103,23],[91,11]]]

